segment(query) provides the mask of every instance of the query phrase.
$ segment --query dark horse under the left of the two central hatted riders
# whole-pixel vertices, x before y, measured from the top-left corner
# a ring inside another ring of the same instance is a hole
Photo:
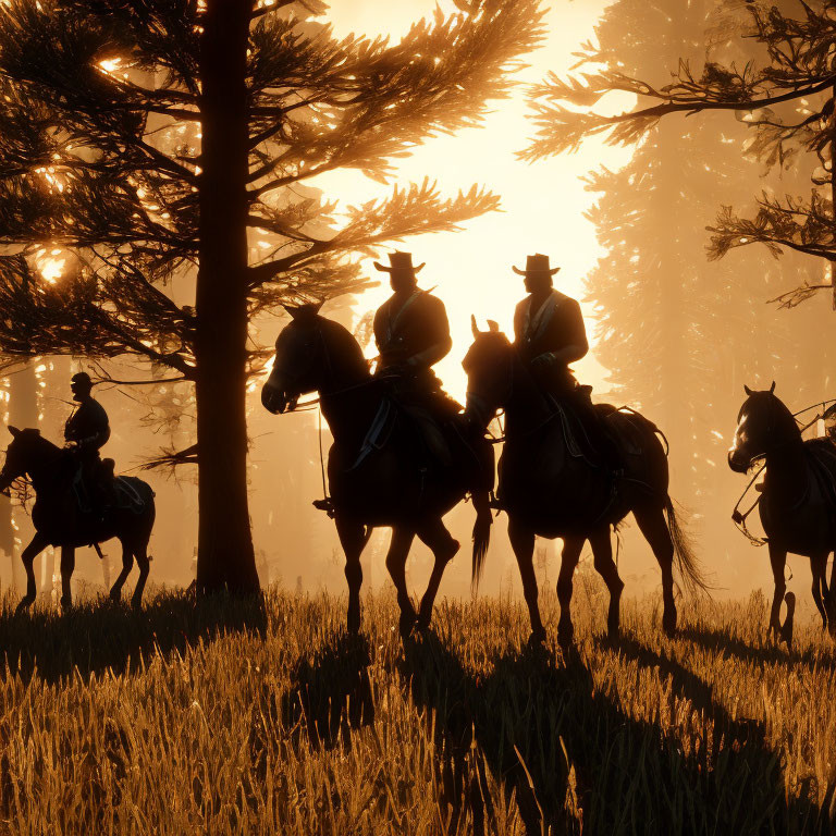
[[[330,513],[345,553],[347,628],[360,629],[360,554],[374,527],[392,528],[386,568],[397,591],[399,631],[426,629],[446,564],[459,543],[442,516],[469,492],[477,512],[474,562],[488,549],[492,524],[493,453],[481,437],[469,443],[454,427],[445,439],[451,460],[429,463],[420,432],[393,402],[385,380],[374,378],[354,336],[319,315],[319,305],[288,307],[292,321],[275,342],[275,360],[261,391],[268,411],[295,408],[319,393],[334,438],[328,454]],[[481,445],[481,446],[479,446]],[[316,503],[315,503],[316,504]],[[415,537],[432,551],[434,565],[418,613],[406,589],[406,558]]]

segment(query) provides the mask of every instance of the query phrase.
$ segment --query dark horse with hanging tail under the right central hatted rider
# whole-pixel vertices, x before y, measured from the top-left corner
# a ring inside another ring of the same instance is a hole
[[[607,631],[611,638],[618,637],[624,582],[613,561],[610,529],[630,512],[662,569],[663,628],[668,635],[675,632],[674,562],[688,591],[705,590],[708,585],[667,492],[667,456],[655,425],[636,411],[597,406],[624,460],[624,474],[613,484],[580,448],[577,438],[582,430],[573,432],[567,410],[538,385],[496,323],[482,332],[472,320],[472,330],[475,342],[463,361],[468,376],[465,416],[487,428],[499,409],[505,410],[499,499],[508,515],[508,537],[528,604],[529,643],[545,639],[532,565],[536,536],[564,541],[557,580],[561,644],[569,646],[574,638],[573,575],[587,540],[610,592]],[[478,583],[481,566],[475,568]]]

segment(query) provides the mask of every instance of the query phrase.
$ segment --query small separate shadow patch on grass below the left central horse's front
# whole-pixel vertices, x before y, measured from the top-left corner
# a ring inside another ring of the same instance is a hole
[[[349,750],[349,729],[374,722],[370,664],[368,639],[347,632],[302,657],[291,675],[293,686],[282,697],[284,727],[304,732],[315,749],[341,743]]]

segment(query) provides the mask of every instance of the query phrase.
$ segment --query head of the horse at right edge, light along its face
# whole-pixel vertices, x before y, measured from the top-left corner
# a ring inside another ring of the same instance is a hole
[[[743,386],[747,398],[737,415],[737,429],[728,451],[728,466],[745,474],[755,458],[776,446],[801,438],[792,414],[775,395],[775,382],[767,390]]]

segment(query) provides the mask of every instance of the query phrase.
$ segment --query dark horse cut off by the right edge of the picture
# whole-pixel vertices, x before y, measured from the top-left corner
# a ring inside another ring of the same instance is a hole
[[[728,466],[745,474],[764,458],[759,513],[766,532],[775,591],[769,635],[780,638],[780,602],[786,590],[787,552],[810,558],[813,601],[836,637],[836,562],[826,581],[827,556],[836,550],[836,445],[827,439],[804,441],[795,417],[769,390],[743,388]]]

